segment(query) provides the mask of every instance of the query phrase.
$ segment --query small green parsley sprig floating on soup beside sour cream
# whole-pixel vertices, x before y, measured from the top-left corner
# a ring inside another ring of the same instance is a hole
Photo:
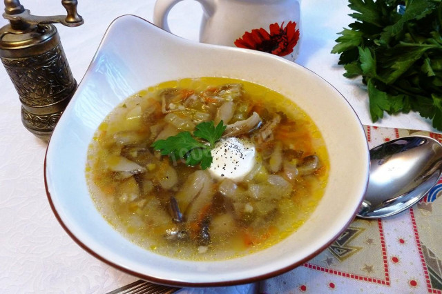
[[[216,127],[213,121],[204,121],[195,127],[193,135],[181,132],[165,140],[157,140],[151,147],[159,150],[161,155],[169,155],[174,160],[184,159],[188,166],[200,164],[205,170],[212,164],[210,151],[215,147],[216,141],[221,139],[226,128],[222,121]]]

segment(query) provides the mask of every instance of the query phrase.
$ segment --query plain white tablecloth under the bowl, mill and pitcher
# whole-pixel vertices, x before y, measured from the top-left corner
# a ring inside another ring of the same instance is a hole
[[[57,25],[70,68],[81,81],[108,25],[122,14],[153,18],[154,0],[79,0],[85,23],[78,28]],[[32,14],[65,14],[61,1],[21,1]],[[2,6],[3,8],[3,6]],[[202,10],[186,0],[172,10],[171,30],[187,39],[198,39]],[[302,0],[303,39],[297,63],[329,81],[354,107],[363,124],[433,130],[417,114],[386,117],[373,124],[367,92],[360,79],[345,79],[330,54],[334,40],[350,22],[345,0]],[[3,26],[7,21],[0,20]],[[46,144],[21,124],[17,92],[6,70],[0,67],[0,292],[1,293],[105,293],[137,280],[83,251],[59,226],[46,198],[43,177]],[[205,289],[208,291],[209,289]],[[247,293],[249,285],[211,289]],[[187,289],[202,292],[201,289]]]

